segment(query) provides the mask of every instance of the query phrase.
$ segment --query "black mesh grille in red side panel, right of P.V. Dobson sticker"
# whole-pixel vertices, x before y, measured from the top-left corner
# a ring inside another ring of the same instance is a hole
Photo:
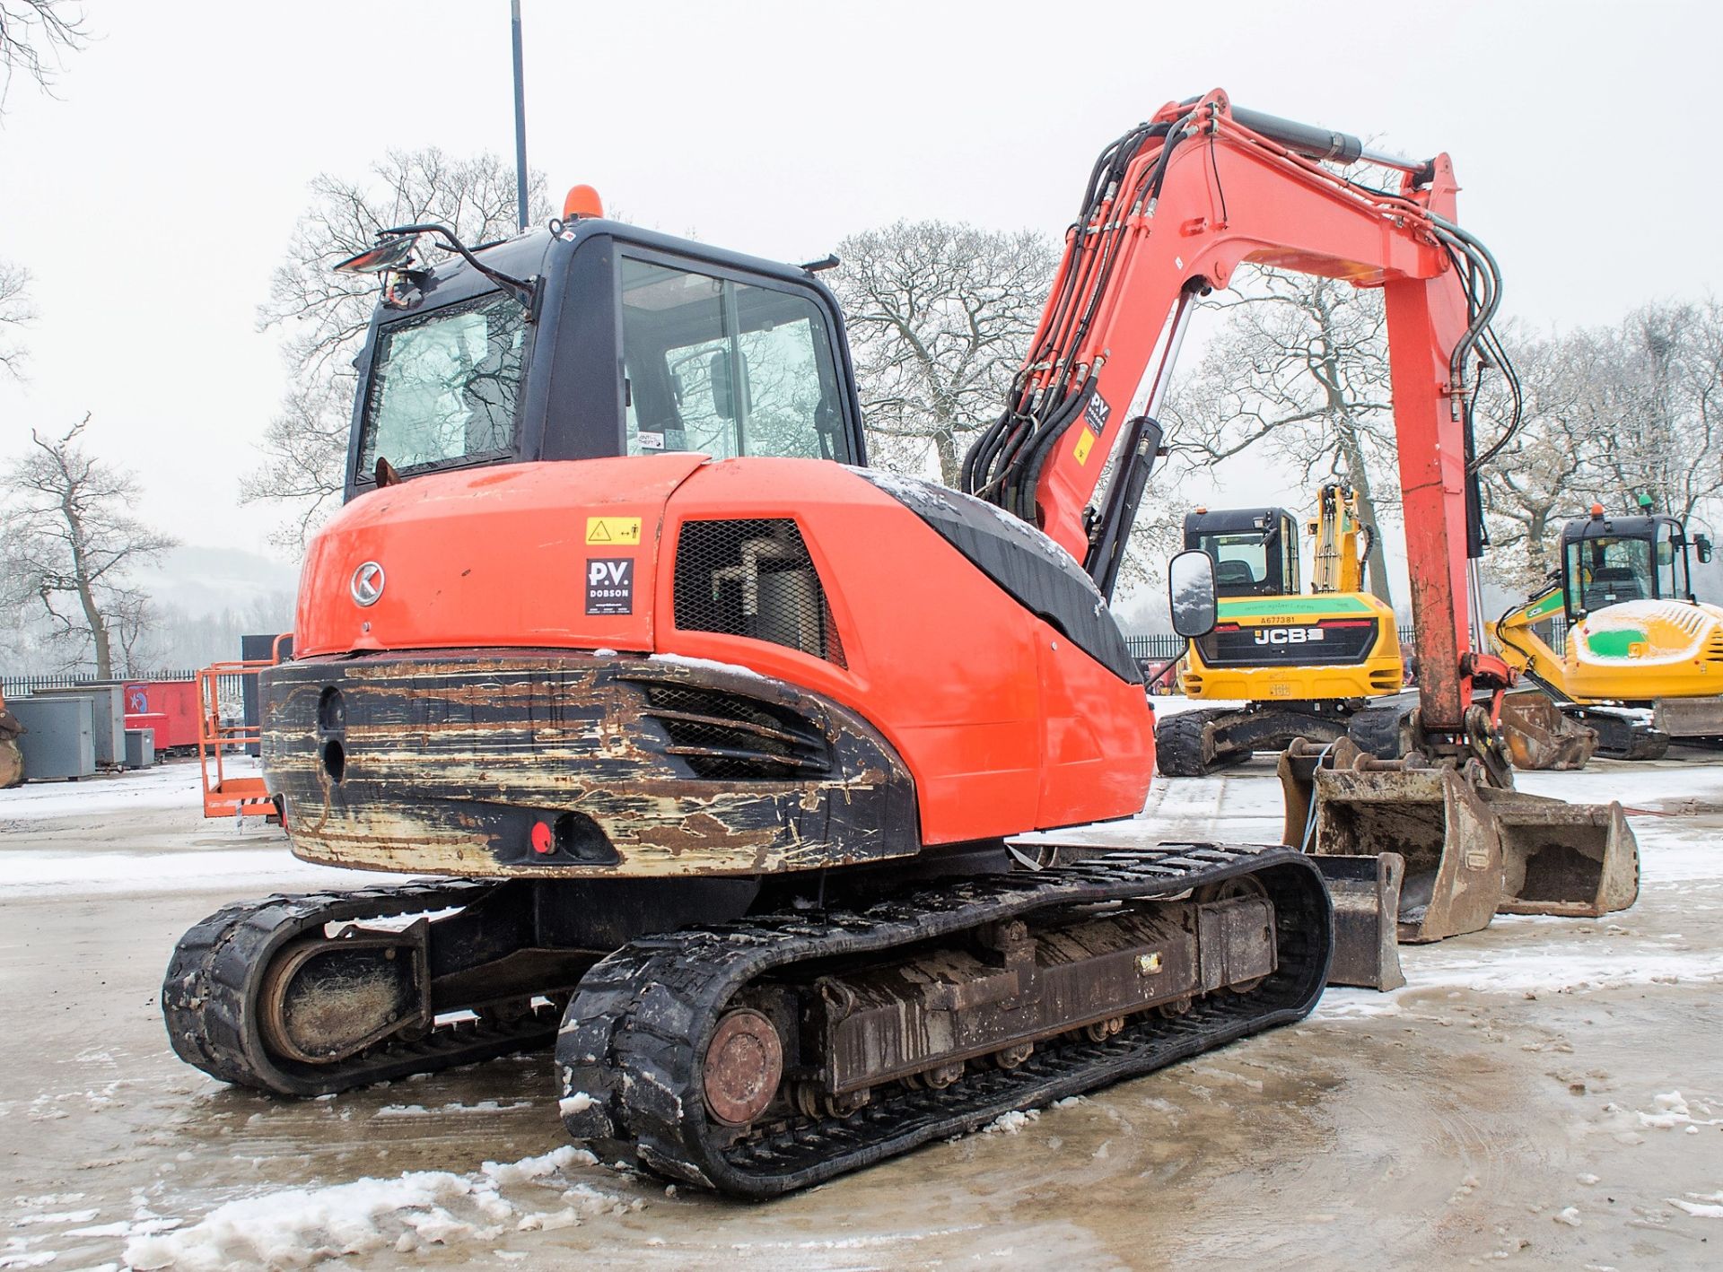
[[[825,589],[789,518],[684,522],[675,544],[675,625],[770,640],[846,666]]]

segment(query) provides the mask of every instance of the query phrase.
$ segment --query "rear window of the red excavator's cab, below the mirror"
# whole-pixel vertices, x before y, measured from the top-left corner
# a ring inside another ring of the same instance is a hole
[[[513,449],[526,330],[526,310],[503,293],[386,327],[365,396],[360,472],[379,458],[407,472]]]

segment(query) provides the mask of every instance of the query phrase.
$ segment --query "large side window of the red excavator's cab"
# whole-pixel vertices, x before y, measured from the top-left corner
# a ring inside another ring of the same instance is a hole
[[[624,256],[622,363],[629,454],[853,458],[805,294]]]

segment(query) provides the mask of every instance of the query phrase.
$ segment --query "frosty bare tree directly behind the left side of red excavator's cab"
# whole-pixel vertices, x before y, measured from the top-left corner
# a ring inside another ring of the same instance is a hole
[[[544,177],[532,174],[529,207],[548,217]],[[277,535],[300,546],[341,497],[348,420],[358,389],[353,356],[364,343],[377,287],[331,265],[364,251],[379,229],[438,222],[469,244],[515,232],[515,172],[496,155],[451,158],[436,146],[391,150],[360,181],[322,174],[276,269],[258,329],[283,332],[289,389],[264,430],[264,465],[239,497],[279,499],[295,518]],[[420,239],[426,251],[441,253]]]

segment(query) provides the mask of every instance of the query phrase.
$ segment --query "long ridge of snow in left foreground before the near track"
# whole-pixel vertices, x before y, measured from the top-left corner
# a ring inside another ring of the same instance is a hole
[[[305,1267],[377,1250],[412,1255],[432,1246],[493,1244],[517,1232],[574,1227],[643,1208],[639,1198],[624,1200],[565,1174],[596,1162],[584,1148],[565,1145],[519,1162],[484,1162],[462,1174],[408,1170],[395,1179],[279,1188],[227,1201],[172,1231],[150,1213],[126,1232],[126,1263],[181,1272]]]

